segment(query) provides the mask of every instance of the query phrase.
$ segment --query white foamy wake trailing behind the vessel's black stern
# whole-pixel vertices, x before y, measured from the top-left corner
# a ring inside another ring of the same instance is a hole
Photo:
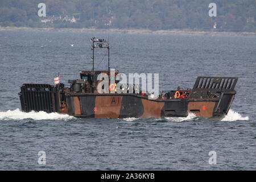
[[[74,117],[68,114],[59,114],[59,113],[46,113],[44,111],[31,111],[30,113],[23,113],[19,109],[15,110],[8,110],[6,112],[0,112],[0,120],[20,120],[20,119],[35,119],[35,120],[42,120],[42,119],[51,119],[51,120],[68,120],[73,119]]]

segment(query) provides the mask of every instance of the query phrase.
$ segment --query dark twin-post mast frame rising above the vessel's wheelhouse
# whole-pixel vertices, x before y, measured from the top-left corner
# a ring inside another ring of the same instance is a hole
[[[108,40],[105,39],[96,39],[96,38],[92,38],[90,39],[92,40],[93,44],[92,44],[92,57],[91,59],[93,60],[93,68],[92,71],[94,71],[94,48],[107,48],[108,49],[108,71],[110,72],[110,61],[109,61],[109,42]]]

